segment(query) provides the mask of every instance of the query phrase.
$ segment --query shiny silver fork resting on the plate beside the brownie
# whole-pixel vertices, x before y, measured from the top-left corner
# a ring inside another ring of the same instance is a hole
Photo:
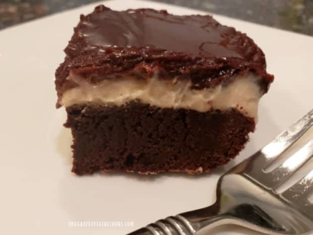
[[[283,193],[275,190],[313,156],[313,139],[271,172],[264,169],[313,124],[313,110],[270,144],[225,173],[217,201],[210,207],[161,219],[128,235],[198,235],[222,224],[236,224],[267,234],[313,231],[313,170]]]

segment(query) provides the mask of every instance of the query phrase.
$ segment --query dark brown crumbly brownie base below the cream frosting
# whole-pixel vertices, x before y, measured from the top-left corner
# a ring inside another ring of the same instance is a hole
[[[255,126],[234,109],[200,113],[131,102],[66,110],[65,126],[72,128],[74,140],[72,171],[78,175],[210,171],[234,158]]]

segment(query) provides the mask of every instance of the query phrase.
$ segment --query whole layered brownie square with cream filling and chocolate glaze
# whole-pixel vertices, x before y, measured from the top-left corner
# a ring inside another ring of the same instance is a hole
[[[190,174],[234,158],[273,76],[262,50],[211,16],[113,11],[80,22],[56,71],[76,174]]]

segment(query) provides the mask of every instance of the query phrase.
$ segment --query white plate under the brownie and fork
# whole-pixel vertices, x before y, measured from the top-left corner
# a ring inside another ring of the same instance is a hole
[[[108,1],[116,10],[167,9],[203,12],[144,1]],[[269,142],[312,108],[313,38],[215,16],[246,32],[275,74],[259,106],[259,123],[246,149],[210,176],[71,173],[71,134],[55,109],[54,72],[80,13],[97,4],[0,31],[0,233],[124,234],[156,219],[214,202],[220,174]],[[69,221],[133,221],[134,227],[70,227]],[[232,234],[251,234],[234,230]]]

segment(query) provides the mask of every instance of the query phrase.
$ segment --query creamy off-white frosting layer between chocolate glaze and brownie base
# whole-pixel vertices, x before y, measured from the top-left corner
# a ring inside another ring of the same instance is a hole
[[[123,77],[103,80],[94,85],[70,74],[67,79],[79,86],[64,92],[61,104],[96,102],[106,105],[123,105],[138,100],[162,108],[183,108],[199,112],[213,109],[236,108],[245,116],[256,118],[259,98],[258,77],[246,72],[232,78],[227,85],[214,88],[191,89],[188,80],[162,80],[154,76],[148,81]]]

